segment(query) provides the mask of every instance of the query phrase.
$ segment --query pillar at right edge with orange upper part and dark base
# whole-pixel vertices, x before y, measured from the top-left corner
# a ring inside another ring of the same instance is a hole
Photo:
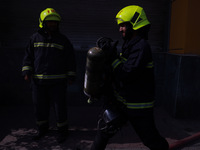
[[[200,20],[198,0],[171,4],[169,53],[165,54],[163,99],[174,117],[200,114]]]

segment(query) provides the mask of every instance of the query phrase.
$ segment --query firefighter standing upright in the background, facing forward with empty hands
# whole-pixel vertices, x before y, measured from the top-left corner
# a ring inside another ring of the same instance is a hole
[[[26,47],[22,74],[31,81],[37,135],[44,137],[49,130],[50,104],[56,114],[58,136],[63,142],[68,132],[66,90],[75,81],[76,62],[74,48],[69,39],[60,33],[61,16],[53,8],[40,13],[39,30]]]

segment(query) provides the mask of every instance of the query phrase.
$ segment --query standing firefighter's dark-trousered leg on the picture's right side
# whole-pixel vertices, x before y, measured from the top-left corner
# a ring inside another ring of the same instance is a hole
[[[59,143],[65,141],[68,132],[66,90],[66,85],[63,83],[55,85],[50,93],[51,97],[53,98],[56,113],[58,128],[57,141]]]

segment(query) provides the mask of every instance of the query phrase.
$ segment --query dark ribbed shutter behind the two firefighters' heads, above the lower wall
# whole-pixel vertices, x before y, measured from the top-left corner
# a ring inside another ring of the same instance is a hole
[[[38,30],[39,14],[47,7],[55,8],[62,16],[61,31],[77,50],[95,45],[101,36],[121,39],[115,22],[117,12],[127,5],[142,6],[151,22],[150,43],[162,51],[168,21],[169,0],[3,0],[0,46],[24,48],[31,34]],[[120,41],[120,45],[122,41]]]

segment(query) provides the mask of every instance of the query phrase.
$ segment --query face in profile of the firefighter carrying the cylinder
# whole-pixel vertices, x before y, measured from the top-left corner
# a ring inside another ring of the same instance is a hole
[[[119,24],[119,32],[122,33],[122,38],[124,40],[131,38],[133,35],[132,25],[130,23]]]

